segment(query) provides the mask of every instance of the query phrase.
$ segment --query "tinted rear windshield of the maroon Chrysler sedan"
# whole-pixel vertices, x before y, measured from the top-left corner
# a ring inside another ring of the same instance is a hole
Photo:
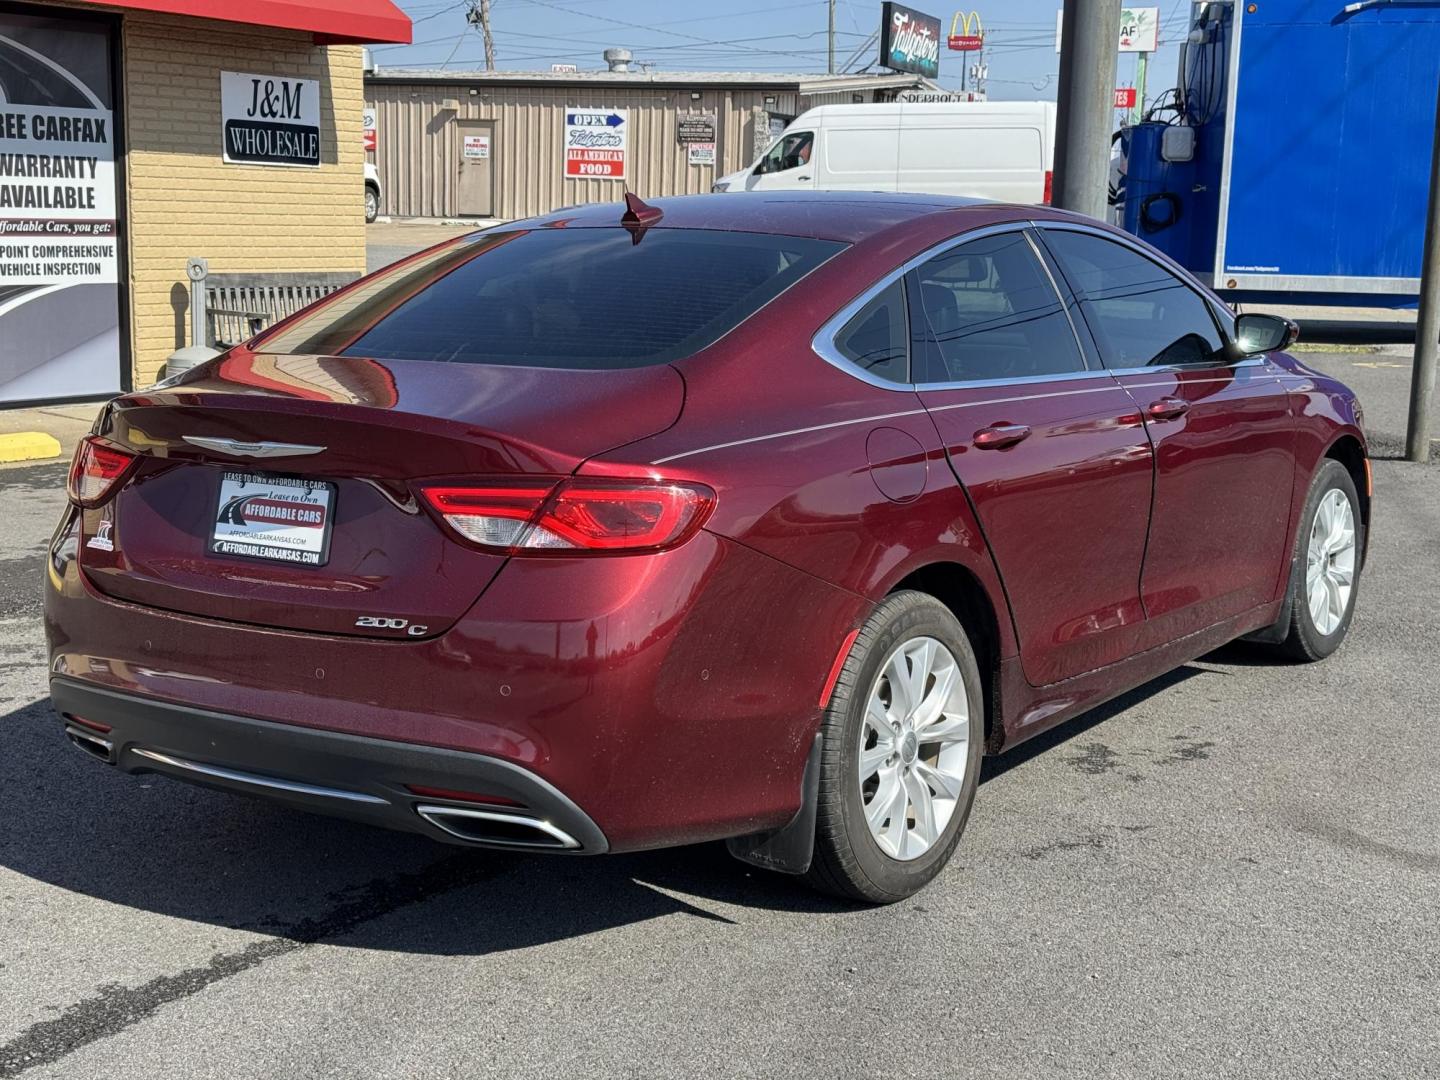
[[[690,356],[845,245],[703,229],[485,232],[382,271],[271,353],[613,369]]]

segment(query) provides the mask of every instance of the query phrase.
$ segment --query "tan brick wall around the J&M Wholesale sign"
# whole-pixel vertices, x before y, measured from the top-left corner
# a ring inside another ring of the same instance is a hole
[[[189,344],[186,259],[212,274],[364,271],[360,48],[127,14],[122,30],[135,386]],[[318,168],[225,164],[220,72],[318,79]]]

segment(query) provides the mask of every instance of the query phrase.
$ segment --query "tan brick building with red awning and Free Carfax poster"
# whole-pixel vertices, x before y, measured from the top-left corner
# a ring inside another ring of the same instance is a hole
[[[0,0],[0,406],[151,382],[186,262],[364,271],[361,42],[390,0]]]

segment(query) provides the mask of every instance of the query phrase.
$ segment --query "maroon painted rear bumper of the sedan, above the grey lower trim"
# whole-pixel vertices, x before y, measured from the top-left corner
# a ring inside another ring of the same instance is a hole
[[[121,543],[124,528],[115,527]],[[367,639],[115,600],[79,570],[76,543],[62,528],[49,559],[55,685],[236,719],[246,730],[264,723],[516,766],[583,808],[611,851],[747,835],[793,818],[821,688],[838,642],[868,608],[861,596],[700,533],[654,556],[516,559],[445,634]],[[340,743],[304,743],[321,744]],[[226,740],[223,756],[210,746],[171,749],[187,760],[311,778],[285,757],[256,763],[240,753],[245,740]],[[121,757],[121,768],[140,765]],[[348,773],[314,776],[320,786],[344,786]],[[305,805],[367,819],[383,811],[341,802]],[[383,824],[433,835],[409,801],[402,809],[383,811]]]

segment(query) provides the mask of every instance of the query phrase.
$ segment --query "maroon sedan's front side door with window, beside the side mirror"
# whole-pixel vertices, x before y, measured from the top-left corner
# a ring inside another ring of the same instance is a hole
[[[1139,248],[1083,226],[1041,236],[1155,445],[1146,644],[1270,602],[1287,566],[1295,484],[1279,369],[1264,357],[1231,363],[1217,307]]]

